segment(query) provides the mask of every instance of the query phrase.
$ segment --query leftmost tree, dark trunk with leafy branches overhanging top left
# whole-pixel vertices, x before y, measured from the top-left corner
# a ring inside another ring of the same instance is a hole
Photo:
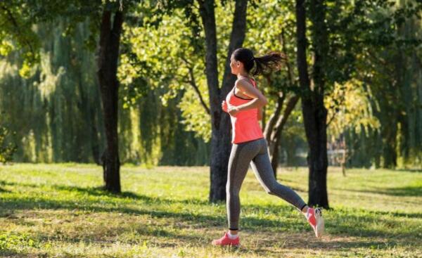
[[[20,27],[15,21],[15,13],[23,13],[23,20],[26,19],[26,34],[32,35],[30,25],[35,22],[53,20],[57,15],[68,15],[72,18],[87,19],[91,22],[100,21],[99,27],[93,28],[94,33],[99,33],[98,41],[98,81],[101,91],[101,100],[103,102],[104,124],[106,129],[106,150],[102,155],[104,181],[106,190],[120,192],[120,160],[118,153],[117,137],[117,103],[118,103],[118,82],[117,82],[117,60],[119,58],[120,34],[122,32],[122,23],[124,14],[122,4],[130,8],[136,1],[61,1],[56,4],[55,1],[45,0],[41,2],[30,1],[26,8],[20,10],[23,6],[22,1],[13,1],[10,6],[2,6],[6,15],[11,20],[12,27]],[[12,11],[11,11],[12,10]],[[126,9],[125,9],[126,10]],[[53,15],[54,13],[54,15]],[[98,16],[101,13],[101,16]],[[34,18],[31,20],[31,18]],[[113,25],[112,25],[113,22]],[[22,37],[19,33],[15,34],[15,39],[21,44],[27,44],[27,37]],[[34,50],[29,47],[32,53]],[[32,56],[35,56],[32,54]],[[30,56],[30,57],[32,57]],[[31,59],[30,59],[31,60]]]

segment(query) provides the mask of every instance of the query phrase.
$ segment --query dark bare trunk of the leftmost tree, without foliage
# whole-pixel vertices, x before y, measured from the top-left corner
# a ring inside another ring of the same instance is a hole
[[[106,190],[120,193],[120,160],[117,136],[117,103],[119,82],[117,81],[117,60],[119,58],[120,34],[123,13],[116,11],[113,27],[112,13],[103,11],[98,50],[98,82],[103,103],[104,126],[106,129],[106,150],[101,157]]]

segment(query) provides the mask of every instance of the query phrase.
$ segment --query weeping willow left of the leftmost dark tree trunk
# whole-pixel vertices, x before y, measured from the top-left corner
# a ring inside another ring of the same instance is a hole
[[[40,24],[40,62],[20,77],[20,53],[1,60],[1,110],[20,138],[23,162],[98,162],[101,111],[94,55],[84,46],[87,23],[65,34],[65,20]]]

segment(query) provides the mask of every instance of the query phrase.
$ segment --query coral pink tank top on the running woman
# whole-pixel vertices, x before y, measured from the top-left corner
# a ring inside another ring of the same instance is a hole
[[[255,80],[250,79],[252,85],[256,88]],[[227,94],[226,103],[229,105],[243,105],[252,100],[252,98],[241,98],[235,95],[236,86]],[[231,119],[231,143],[243,143],[245,141],[253,141],[264,138],[262,129],[258,123],[258,109],[243,110],[236,114],[236,117],[230,116]]]

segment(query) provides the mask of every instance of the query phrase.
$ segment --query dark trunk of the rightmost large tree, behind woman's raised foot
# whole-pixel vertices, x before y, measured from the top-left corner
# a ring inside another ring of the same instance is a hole
[[[310,206],[318,205],[328,208],[328,193],[326,188],[326,174],[328,167],[326,118],[324,107],[324,58],[327,54],[327,32],[324,23],[324,1],[310,1],[313,44],[314,71],[312,89],[307,70],[307,39],[306,39],[306,10],[305,0],[296,1],[296,33],[298,38],[298,71],[302,87],[302,113],[305,132],[309,146],[309,202]],[[325,40],[325,41],[324,41]]]

